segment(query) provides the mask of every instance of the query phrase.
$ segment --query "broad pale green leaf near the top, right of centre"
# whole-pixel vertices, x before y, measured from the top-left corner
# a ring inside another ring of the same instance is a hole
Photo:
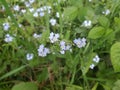
[[[63,18],[64,18],[64,20],[72,21],[76,18],[77,13],[78,13],[77,7],[74,7],[74,6],[67,7],[64,9]]]

